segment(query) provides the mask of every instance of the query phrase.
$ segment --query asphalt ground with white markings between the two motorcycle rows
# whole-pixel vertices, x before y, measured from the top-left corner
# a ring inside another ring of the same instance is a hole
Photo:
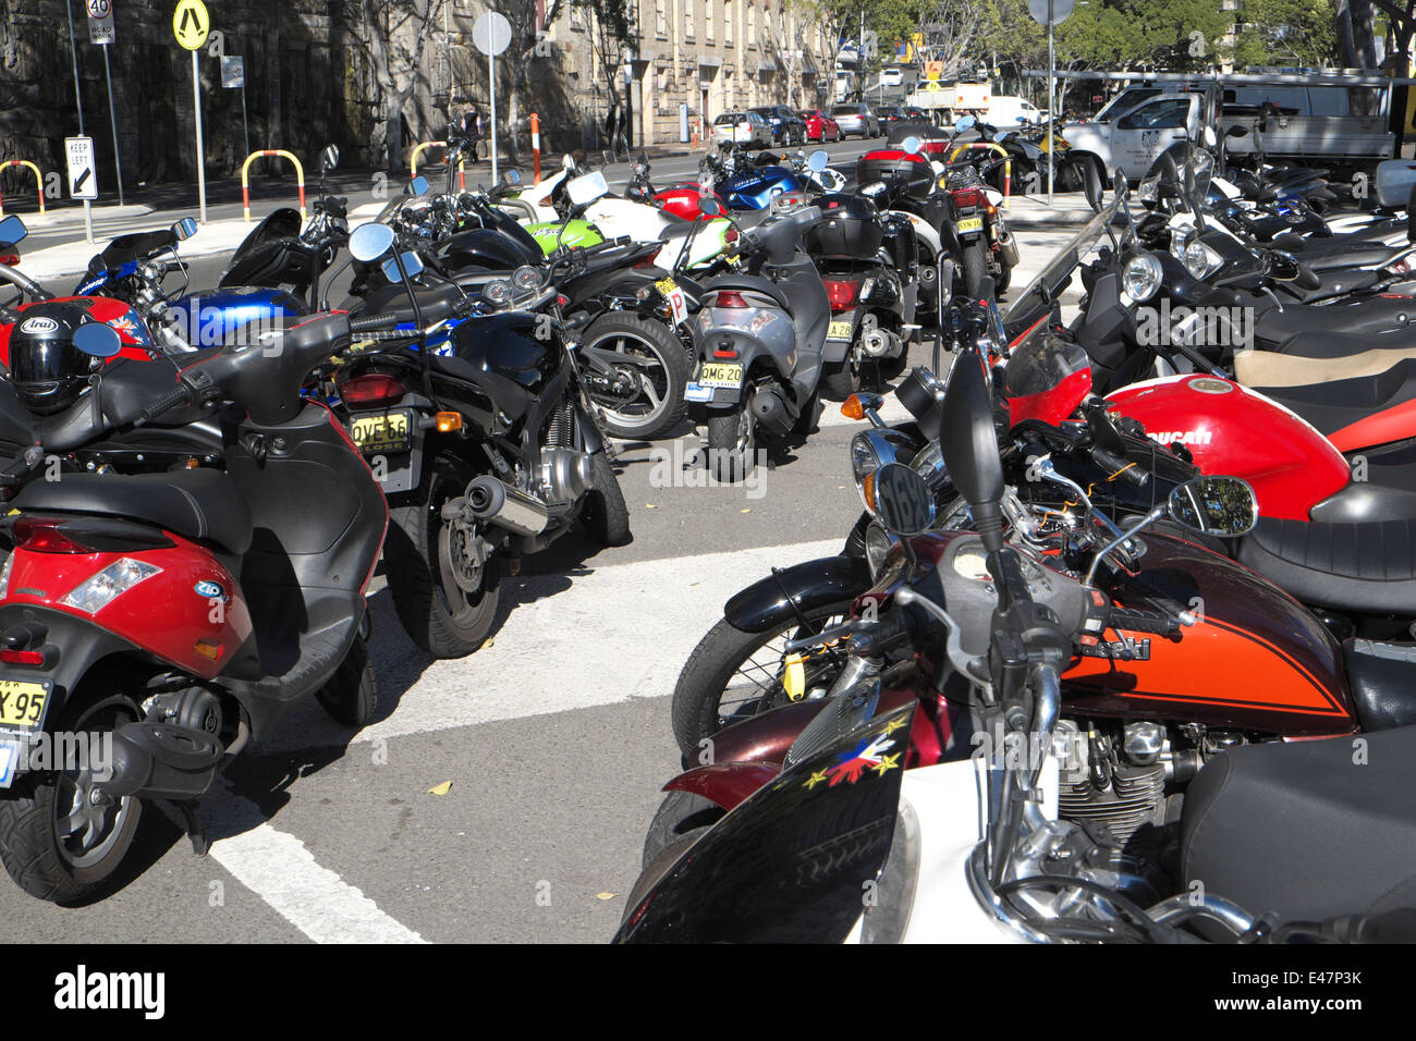
[[[654,176],[694,169],[664,160]],[[1017,285],[1068,238],[1020,231]],[[224,262],[194,262],[193,285],[214,283]],[[892,402],[886,418],[899,414]],[[503,581],[493,642],[460,661],[422,654],[375,579],[374,725],[351,734],[313,701],[296,710],[202,802],[215,840],[204,858],[149,807],[122,877],[86,906],[0,880],[6,939],[607,940],[678,770],[678,670],[728,596],[773,565],[837,551],[860,511],[855,429],[831,409],[736,487],[705,482],[691,431],[619,445],[634,541],[596,550],[576,533],[527,559]]]

